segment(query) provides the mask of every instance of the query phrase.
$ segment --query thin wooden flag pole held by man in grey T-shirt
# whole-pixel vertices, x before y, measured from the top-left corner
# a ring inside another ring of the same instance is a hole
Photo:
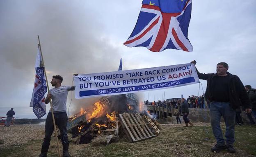
[[[39,41],[39,49],[40,49],[40,55],[42,57],[42,62],[43,62],[43,54],[42,54],[42,51],[41,51],[41,44],[40,44],[40,39],[39,39],[39,35],[37,35],[38,37],[38,41]],[[44,66],[44,62],[43,62],[43,66]],[[47,75],[46,75],[46,70],[44,68],[44,75],[46,76],[46,84],[47,84],[47,90],[48,92],[49,91],[49,85],[48,85],[48,80],[47,80]],[[54,119],[54,115],[53,115],[53,103],[52,103],[52,100],[50,100],[50,109],[51,109],[51,113],[52,113],[52,117],[53,117],[53,126],[54,126],[54,132],[55,132],[55,137],[56,137],[56,142],[57,142],[57,147],[58,147],[58,154],[59,154],[59,157],[61,157],[61,154],[60,154],[60,148],[59,148],[59,140],[58,140],[58,136],[57,136],[57,130],[56,130],[56,124],[55,124],[55,119]]]

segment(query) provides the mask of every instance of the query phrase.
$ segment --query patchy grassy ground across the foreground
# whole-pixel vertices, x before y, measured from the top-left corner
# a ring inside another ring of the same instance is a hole
[[[222,125],[223,130],[225,127]],[[196,124],[185,128],[182,125],[161,124],[157,137],[130,143],[122,138],[108,146],[76,145],[71,143],[71,157],[256,157],[256,126],[235,127],[234,144],[237,153],[226,150],[214,154],[210,148],[215,144],[209,124]],[[32,139],[25,144],[0,148],[0,157],[38,157],[42,141]],[[0,144],[2,145],[2,144]],[[48,157],[57,157],[57,146],[52,139]]]

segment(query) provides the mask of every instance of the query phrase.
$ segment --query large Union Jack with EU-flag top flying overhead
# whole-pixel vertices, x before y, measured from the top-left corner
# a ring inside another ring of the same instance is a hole
[[[187,38],[192,0],[143,0],[135,28],[124,43],[154,52],[193,51]]]

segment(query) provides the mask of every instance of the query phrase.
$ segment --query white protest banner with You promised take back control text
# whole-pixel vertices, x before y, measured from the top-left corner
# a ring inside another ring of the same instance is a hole
[[[153,91],[199,83],[194,64],[75,76],[75,98]]]

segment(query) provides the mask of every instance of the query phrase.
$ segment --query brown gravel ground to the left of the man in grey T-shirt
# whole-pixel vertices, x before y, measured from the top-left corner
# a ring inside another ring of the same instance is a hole
[[[39,124],[0,126],[0,149],[25,144],[32,139],[43,140],[44,126]]]

